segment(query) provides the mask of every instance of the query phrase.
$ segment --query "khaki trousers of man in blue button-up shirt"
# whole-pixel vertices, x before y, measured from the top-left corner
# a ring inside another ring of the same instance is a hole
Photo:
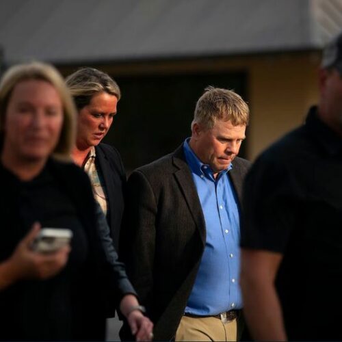
[[[237,320],[223,323],[215,317],[183,316],[176,341],[237,341]]]

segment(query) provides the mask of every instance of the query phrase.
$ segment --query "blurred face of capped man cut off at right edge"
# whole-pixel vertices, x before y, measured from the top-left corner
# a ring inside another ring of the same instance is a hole
[[[321,70],[320,92],[322,119],[342,134],[342,77],[337,70]]]

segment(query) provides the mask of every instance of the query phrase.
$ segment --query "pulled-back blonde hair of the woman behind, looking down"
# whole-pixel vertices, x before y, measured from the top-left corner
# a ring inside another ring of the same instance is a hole
[[[75,105],[81,110],[92,101],[92,97],[101,92],[121,97],[118,84],[108,74],[95,68],[81,68],[66,77],[66,86],[73,96]]]

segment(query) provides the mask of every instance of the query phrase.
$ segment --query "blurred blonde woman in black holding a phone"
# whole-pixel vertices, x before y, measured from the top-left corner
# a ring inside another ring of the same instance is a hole
[[[76,115],[52,66],[14,66],[1,79],[1,340],[101,340],[116,303],[137,339],[151,337],[127,277],[106,261],[88,176],[68,161]],[[31,250],[41,226],[70,229],[70,246]]]

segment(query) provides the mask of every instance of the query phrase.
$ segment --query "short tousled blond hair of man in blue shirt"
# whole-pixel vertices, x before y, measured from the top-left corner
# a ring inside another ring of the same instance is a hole
[[[209,86],[196,103],[192,126],[196,122],[212,129],[216,120],[231,121],[233,126],[247,126],[249,116],[248,105],[239,94]]]

